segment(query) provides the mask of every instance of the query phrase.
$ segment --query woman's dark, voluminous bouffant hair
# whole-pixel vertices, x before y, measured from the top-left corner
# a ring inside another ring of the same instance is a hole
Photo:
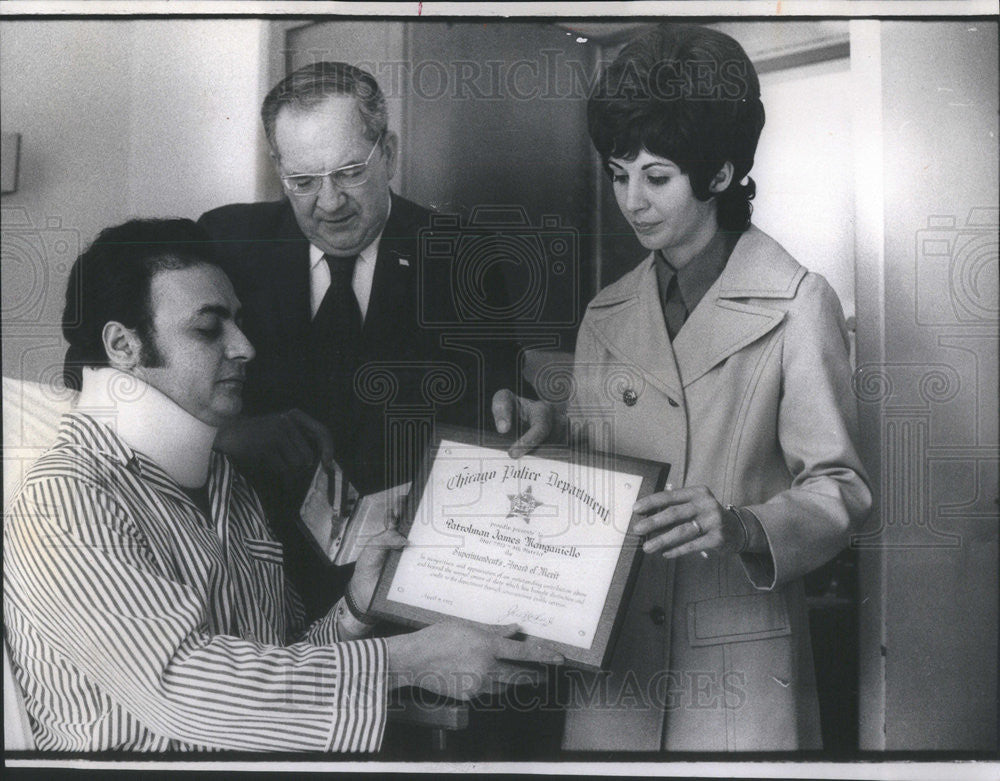
[[[587,125],[605,167],[611,157],[633,160],[645,149],[676,163],[702,201],[730,161],[733,180],[715,196],[719,226],[749,227],[756,187],[749,177],[740,182],[753,167],[764,105],[753,63],[728,35],[664,24],[631,41],[602,74]]]

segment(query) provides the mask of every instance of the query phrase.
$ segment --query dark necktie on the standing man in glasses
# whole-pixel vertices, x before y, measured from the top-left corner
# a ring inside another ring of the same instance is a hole
[[[312,350],[318,372],[316,388],[320,418],[339,427],[350,415],[350,399],[361,350],[361,309],[351,280],[357,256],[324,255],[330,267],[330,287],[312,320]]]

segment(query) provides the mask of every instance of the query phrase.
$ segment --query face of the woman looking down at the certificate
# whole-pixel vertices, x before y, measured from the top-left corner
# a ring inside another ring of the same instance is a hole
[[[618,207],[642,246],[663,250],[680,268],[718,230],[715,200],[699,201],[688,175],[645,149],[635,160],[608,160]]]

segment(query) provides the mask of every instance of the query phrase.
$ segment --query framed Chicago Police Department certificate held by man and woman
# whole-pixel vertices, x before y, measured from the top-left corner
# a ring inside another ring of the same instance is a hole
[[[506,437],[438,426],[370,610],[408,626],[519,624],[567,664],[610,659],[638,571],[632,505],[669,466],[566,447],[512,459]]]

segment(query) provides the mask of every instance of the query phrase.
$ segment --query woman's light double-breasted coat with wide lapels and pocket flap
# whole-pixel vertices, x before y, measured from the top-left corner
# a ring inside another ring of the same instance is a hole
[[[801,577],[871,504],[836,294],[751,227],[671,345],[649,256],[590,304],[574,374],[574,427],[749,507],[771,556],[644,556],[612,671],[572,688],[564,748],[819,748]]]

